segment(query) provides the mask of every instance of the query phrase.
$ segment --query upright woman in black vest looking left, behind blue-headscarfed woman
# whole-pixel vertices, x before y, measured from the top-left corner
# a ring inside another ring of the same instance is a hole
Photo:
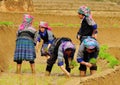
[[[81,27],[77,33],[77,39],[82,42],[87,36],[97,38],[97,24],[94,22],[91,11],[86,6],[81,6],[78,9],[78,16],[82,19]]]

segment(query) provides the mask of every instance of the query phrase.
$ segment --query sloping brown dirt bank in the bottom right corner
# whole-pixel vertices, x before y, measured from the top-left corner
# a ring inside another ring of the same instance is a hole
[[[100,74],[81,78],[80,85],[119,85],[120,66],[108,69]]]

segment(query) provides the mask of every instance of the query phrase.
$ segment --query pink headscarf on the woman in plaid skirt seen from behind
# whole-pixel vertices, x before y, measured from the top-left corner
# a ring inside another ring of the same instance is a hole
[[[25,29],[26,27],[31,26],[32,20],[33,20],[33,17],[32,17],[31,15],[29,15],[29,14],[24,14],[23,22],[22,22],[22,24],[20,25],[19,29],[20,29],[20,30],[23,30],[23,29]]]

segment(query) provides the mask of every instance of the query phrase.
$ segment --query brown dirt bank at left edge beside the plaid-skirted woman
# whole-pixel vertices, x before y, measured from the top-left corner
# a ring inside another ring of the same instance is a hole
[[[0,69],[7,70],[15,47],[15,30],[8,27],[0,27]]]

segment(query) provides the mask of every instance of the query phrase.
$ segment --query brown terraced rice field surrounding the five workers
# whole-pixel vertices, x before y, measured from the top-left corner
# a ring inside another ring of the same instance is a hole
[[[86,2],[87,1],[87,2]],[[49,22],[56,37],[70,37],[77,49],[79,41],[75,38],[80,26],[76,16],[77,9],[87,5],[92,9],[93,18],[98,24],[98,41],[107,45],[108,53],[120,60],[120,6],[111,2],[92,0],[34,0],[34,27],[38,29],[40,20]],[[36,74],[32,75],[27,62],[23,63],[22,74],[15,74],[16,63],[13,62],[16,31],[24,13],[0,13],[0,21],[10,21],[12,26],[0,26],[0,85],[119,85],[120,66],[109,68],[108,62],[99,59],[97,74],[79,77],[78,67],[72,70],[71,78],[63,76],[57,65],[50,77],[44,75],[46,60],[37,55]],[[62,33],[62,34],[61,34]],[[1,67],[2,66],[2,67]]]

